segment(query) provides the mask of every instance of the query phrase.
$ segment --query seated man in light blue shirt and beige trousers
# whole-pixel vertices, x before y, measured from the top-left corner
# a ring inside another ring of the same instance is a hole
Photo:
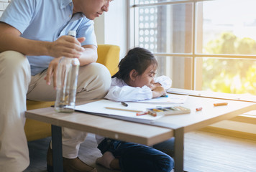
[[[97,59],[93,19],[111,0],[12,0],[0,19],[0,171],[29,166],[24,111],[29,100],[55,100],[60,57],[81,64],[76,100],[104,97],[111,76]],[[78,39],[65,36],[76,30]],[[105,75],[105,76],[103,76]],[[107,76],[106,76],[107,75]],[[86,133],[63,128],[65,171],[96,171],[78,158]],[[52,166],[51,150],[47,166]]]

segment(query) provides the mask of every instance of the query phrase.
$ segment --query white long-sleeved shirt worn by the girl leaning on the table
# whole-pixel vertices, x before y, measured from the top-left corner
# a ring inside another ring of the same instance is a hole
[[[170,80],[170,77],[164,75],[156,77],[154,80],[156,83],[160,83],[165,90],[170,88],[172,85],[172,80]],[[117,102],[147,100],[152,98],[152,90],[147,86],[131,87],[123,80],[114,77],[111,80],[109,92],[104,98]],[[104,137],[101,135],[95,135],[95,138],[98,144],[104,140]]]

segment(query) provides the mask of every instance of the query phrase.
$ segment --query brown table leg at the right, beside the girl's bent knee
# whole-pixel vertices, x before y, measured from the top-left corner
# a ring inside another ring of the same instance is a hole
[[[184,128],[174,130],[175,145],[175,172],[183,172],[183,158],[184,158]]]

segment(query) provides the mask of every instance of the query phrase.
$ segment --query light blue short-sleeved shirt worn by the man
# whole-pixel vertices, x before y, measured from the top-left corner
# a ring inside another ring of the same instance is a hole
[[[72,0],[12,0],[0,18],[22,33],[21,37],[53,42],[76,30],[77,37],[86,37],[82,45],[97,45],[93,21],[81,13],[73,15]],[[53,57],[27,56],[32,75],[47,69]]]

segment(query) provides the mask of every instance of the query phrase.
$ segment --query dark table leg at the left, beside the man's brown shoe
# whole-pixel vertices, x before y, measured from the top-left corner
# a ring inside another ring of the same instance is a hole
[[[54,172],[63,172],[62,133],[56,125],[52,125],[52,166]]]

